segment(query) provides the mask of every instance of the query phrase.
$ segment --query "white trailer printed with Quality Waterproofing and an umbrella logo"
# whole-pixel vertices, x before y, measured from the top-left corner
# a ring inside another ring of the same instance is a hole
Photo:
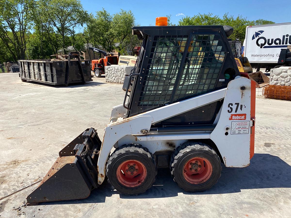
[[[246,27],[243,56],[252,67],[266,68],[266,72],[278,64],[281,49],[291,45],[291,22]]]

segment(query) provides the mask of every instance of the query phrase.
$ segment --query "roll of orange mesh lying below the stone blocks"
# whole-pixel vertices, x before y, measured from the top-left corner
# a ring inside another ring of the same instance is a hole
[[[291,86],[267,85],[263,88],[265,98],[291,100]]]

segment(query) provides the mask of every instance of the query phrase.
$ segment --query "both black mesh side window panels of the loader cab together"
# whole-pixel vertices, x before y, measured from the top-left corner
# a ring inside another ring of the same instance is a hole
[[[224,60],[223,46],[219,46],[215,35],[193,35],[181,63],[187,40],[187,35],[155,36],[139,106],[170,103],[175,83],[174,102],[214,90]],[[177,78],[180,67],[182,73]]]

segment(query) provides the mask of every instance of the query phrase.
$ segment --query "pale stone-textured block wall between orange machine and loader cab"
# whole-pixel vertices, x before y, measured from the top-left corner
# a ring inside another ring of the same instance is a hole
[[[123,83],[125,75],[129,75],[132,66],[110,65],[105,67],[105,81],[110,83]]]

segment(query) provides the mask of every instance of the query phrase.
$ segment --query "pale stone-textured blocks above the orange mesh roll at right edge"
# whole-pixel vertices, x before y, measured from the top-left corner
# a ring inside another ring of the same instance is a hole
[[[291,86],[291,67],[279,67],[271,69],[270,85]]]

